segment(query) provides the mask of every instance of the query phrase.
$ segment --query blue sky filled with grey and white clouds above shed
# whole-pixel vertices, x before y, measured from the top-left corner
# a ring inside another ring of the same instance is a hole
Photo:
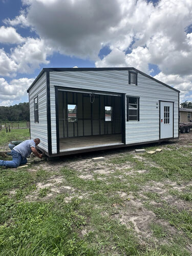
[[[0,0],[0,105],[57,67],[134,67],[192,101],[192,1]]]

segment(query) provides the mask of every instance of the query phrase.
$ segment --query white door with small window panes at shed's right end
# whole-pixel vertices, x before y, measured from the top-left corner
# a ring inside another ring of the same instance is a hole
[[[160,139],[173,138],[173,105],[160,101]]]

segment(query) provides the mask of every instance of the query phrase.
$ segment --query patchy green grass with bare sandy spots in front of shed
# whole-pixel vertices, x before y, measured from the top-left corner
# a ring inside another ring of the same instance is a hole
[[[51,171],[43,164],[0,167],[1,255],[191,255],[191,152],[174,145],[142,159],[128,152],[81,171],[80,158],[76,165],[63,161],[60,170],[56,162]],[[93,178],[79,177],[87,173]],[[63,178],[55,184],[60,193],[51,189],[53,176]],[[156,189],[160,184],[166,193]]]

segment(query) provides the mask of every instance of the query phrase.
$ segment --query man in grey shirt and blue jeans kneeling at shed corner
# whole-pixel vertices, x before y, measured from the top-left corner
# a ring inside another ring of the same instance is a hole
[[[27,157],[29,157],[32,152],[38,158],[42,158],[42,154],[39,154],[35,148],[39,143],[40,139],[38,138],[23,141],[11,151],[12,161],[0,160],[0,166],[17,168],[19,165],[27,163]]]

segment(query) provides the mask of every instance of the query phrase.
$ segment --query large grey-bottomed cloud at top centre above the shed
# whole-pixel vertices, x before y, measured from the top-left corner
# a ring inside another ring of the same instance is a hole
[[[118,0],[25,0],[27,23],[60,53],[96,59],[101,43],[115,38],[110,30],[121,18]],[[22,18],[7,22],[13,25]],[[24,20],[24,25],[26,24]],[[119,38],[121,39],[121,38]]]

